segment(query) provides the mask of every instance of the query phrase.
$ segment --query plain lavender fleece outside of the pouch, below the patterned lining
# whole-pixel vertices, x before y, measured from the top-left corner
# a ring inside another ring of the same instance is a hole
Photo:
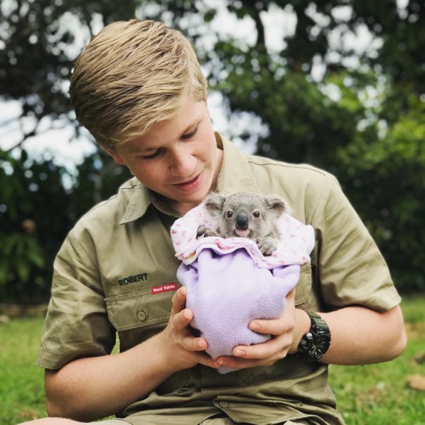
[[[186,306],[195,313],[192,327],[208,341],[212,358],[232,355],[235,346],[259,344],[270,335],[251,331],[254,319],[279,318],[288,292],[299,280],[300,266],[273,270],[253,266],[245,249],[216,254],[203,249],[197,261],[178,268],[178,280],[188,287]],[[221,373],[230,372],[221,368]]]

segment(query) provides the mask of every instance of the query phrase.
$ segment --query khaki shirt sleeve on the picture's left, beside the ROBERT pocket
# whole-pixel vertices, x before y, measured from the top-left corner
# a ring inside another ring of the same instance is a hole
[[[115,345],[88,233],[67,236],[53,265],[51,301],[37,365],[60,369],[76,358],[105,355]],[[91,253],[91,254],[89,254]]]

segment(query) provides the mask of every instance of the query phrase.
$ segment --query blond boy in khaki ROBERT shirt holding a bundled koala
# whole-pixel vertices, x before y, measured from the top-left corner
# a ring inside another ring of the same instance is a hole
[[[70,95],[134,177],[80,219],[55,260],[38,359],[52,418],[34,424],[111,414],[122,419],[105,424],[344,424],[327,365],[390,360],[406,339],[388,268],[335,178],[244,155],[214,133],[196,55],[161,22],[105,27]],[[282,318],[249,325],[273,338],[213,361],[190,332],[169,228],[208,192],[242,190],[289,200],[316,244]],[[110,355],[116,332],[121,352]]]

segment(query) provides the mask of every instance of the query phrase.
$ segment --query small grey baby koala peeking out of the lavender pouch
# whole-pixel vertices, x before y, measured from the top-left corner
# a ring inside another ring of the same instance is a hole
[[[275,195],[261,196],[236,192],[223,196],[210,193],[202,201],[211,217],[218,221],[216,231],[200,225],[197,237],[247,237],[254,240],[263,255],[271,255],[277,248],[279,235],[275,221],[285,211],[287,203]]]

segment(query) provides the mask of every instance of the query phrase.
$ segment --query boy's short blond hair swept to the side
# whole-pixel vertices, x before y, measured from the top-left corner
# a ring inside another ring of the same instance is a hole
[[[189,41],[162,22],[103,28],[79,55],[70,96],[79,123],[113,148],[170,119],[185,95],[207,100],[207,81]]]

